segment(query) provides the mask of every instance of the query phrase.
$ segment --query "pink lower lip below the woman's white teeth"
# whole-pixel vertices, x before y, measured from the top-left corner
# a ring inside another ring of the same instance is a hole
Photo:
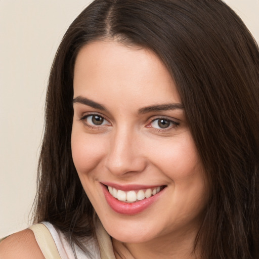
[[[155,202],[164,191],[164,189],[163,189],[156,195],[151,196],[150,198],[145,198],[143,200],[136,201],[133,203],[127,203],[127,202],[119,201],[118,199],[114,198],[109,193],[106,186],[104,186],[103,184],[101,184],[101,186],[103,188],[105,199],[106,199],[107,203],[110,205],[110,207],[115,212],[117,212],[119,214],[124,214],[124,215],[134,215],[134,214],[140,213],[141,211],[145,210],[150,205],[152,205],[153,202]]]

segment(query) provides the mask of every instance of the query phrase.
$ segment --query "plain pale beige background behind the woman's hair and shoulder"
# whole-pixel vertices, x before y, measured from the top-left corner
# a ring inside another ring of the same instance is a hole
[[[24,229],[35,195],[48,73],[91,1],[0,0],[0,237]],[[259,0],[226,0],[259,41]]]

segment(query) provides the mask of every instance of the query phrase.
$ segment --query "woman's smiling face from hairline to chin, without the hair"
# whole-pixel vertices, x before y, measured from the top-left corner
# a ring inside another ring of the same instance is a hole
[[[174,80],[151,51],[83,47],[74,69],[72,155],[104,228],[122,242],[194,236],[206,180]]]

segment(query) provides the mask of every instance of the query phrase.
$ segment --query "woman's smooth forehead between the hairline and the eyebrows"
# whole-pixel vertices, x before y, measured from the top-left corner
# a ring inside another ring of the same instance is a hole
[[[157,55],[117,41],[91,42],[79,51],[74,68],[77,96],[143,106],[181,102],[174,80]]]

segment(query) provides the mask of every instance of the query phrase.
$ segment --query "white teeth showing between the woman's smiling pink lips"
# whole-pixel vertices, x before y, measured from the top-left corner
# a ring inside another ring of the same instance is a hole
[[[154,188],[141,189],[141,190],[131,190],[131,191],[122,191],[114,187],[107,186],[109,193],[119,201],[124,201],[127,203],[134,203],[140,200],[150,198],[151,196],[156,195],[162,191],[165,186],[158,186]]]

